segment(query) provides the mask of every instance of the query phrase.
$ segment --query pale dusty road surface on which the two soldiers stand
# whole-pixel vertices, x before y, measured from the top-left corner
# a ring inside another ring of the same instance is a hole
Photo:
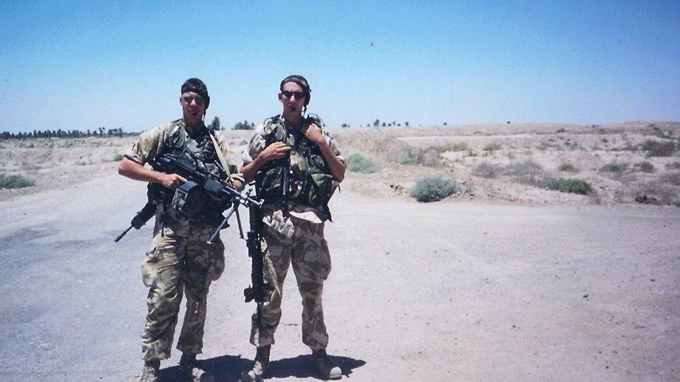
[[[0,202],[0,379],[139,375],[150,229],[112,239],[144,191],[111,175]],[[677,208],[419,204],[347,191],[331,208],[328,350],[347,379],[680,378]],[[212,287],[201,358],[234,381],[254,356],[254,305],[242,301],[245,242],[231,228],[223,239],[227,269]],[[270,377],[312,379],[288,277]],[[178,359],[162,364],[164,380]]]

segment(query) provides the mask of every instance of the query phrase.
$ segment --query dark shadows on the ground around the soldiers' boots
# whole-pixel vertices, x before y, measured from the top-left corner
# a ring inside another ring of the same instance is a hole
[[[355,360],[349,357],[330,356],[336,365],[342,369],[342,375],[348,376],[357,367],[366,364],[364,360]],[[206,370],[215,376],[215,381],[238,381],[241,372],[251,367],[253,361],[241,356],[222,356],[199,361]],[[297,356],[272,360],[265,379],[295,377],[321,379],[311,367],[311,355]],[[167,367],[160,371],[161,382],[184,381],[179,365]]]

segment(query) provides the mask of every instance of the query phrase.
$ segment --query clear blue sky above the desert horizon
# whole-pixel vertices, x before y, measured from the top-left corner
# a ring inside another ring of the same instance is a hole
[[[0,130],[141,131],[189,77],[261,122],[294,73],[327,125],[680,120],[680,2],[0,1]]]

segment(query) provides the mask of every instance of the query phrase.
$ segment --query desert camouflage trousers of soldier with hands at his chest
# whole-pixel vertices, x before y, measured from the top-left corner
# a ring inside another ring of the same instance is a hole
[[[312,223],[294,216],[291,220],[294,231],[290,238],[264,226],[264,277],[275,290],[270,301],[263,303],[261,326],[257,325],[257,313],[252,316],[250,343],[263,347],[275,342],[274,333],[281,319],[281,292],[288,266],[293,264],[297,289],[302,296],[302,342],[311,349],[325,349],[328,335],[323,323],[321,294],[331,262],[328,245],[323,238],[323,223]]]

